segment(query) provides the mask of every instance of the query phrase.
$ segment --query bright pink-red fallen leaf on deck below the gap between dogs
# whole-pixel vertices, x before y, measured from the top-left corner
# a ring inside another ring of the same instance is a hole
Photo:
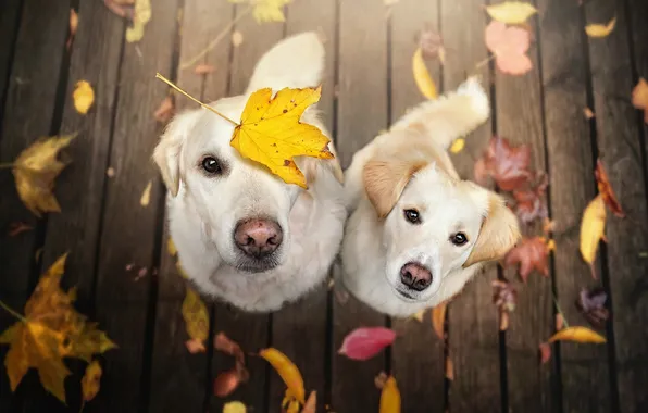
[[[351,360],[369,360],[390,346],[396,333],[385,327],[360,327],[349,333],[337,351]]]

